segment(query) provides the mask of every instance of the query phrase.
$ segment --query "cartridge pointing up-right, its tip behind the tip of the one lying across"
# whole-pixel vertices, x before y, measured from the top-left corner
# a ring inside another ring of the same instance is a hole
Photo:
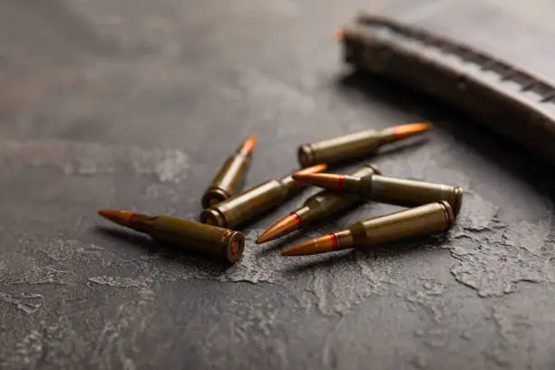
[[[314,173],[322,170],[326,170],[326,165],[319,164],[299,172]],[[253,189],[243,191],[215,206],[204,209],[200,214],[200,221],[209,225],[232,229],[268,209],[277,207],[303,188],[304,185],[293,180],[292,174],[279,180],[268,180]]]

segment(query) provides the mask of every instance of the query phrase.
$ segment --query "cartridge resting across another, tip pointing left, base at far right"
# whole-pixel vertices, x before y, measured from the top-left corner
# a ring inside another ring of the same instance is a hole
[[[459,213],[463,202],[463,188],[443,184],[434,184],[419,180],[405,180],[369,173],[364,176],[336,175],[333,173],[295,174],[299,182],[314,185],[326,190],[343,194],[355,194],[366,200],[415,207],[434,201],[446,200]]]

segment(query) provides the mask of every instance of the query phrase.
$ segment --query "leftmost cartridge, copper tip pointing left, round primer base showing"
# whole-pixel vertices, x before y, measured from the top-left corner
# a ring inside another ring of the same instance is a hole
[[[176,248],[198,252],[235,263],[243,255],[245,237],[239,231],[222,229],[188,219],[149,216],[126,210],[101,209],[98,214],[126,228],[169,243]]]

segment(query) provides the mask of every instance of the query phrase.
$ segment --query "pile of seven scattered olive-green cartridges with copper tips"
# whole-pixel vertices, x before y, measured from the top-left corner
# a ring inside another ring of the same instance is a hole
[[[257,239],[257,244],[283,237],[301,226],[340,214],[365,200],[394,204],[406,209],[356,222],[347,229],[307,240],[283,251],[284,256],[331,252],[383,244],[444,232],[453,226],[461,208],[463,190],[457,186],[404,180],[384,176],[366,164],[349,175],[324,173],[327,165],[369,156],[382,146],[428,131],[428,123],[410,123],[385,130],[368,130],[301,145],[298,161],[302,170],[281,179],[268,180],[239,193],[256,138],[248,138],[229,157],[202,197],[200,222],[170,216],[149,216],[124,210],[99,210],[99,214],[122,226],[146,233],[177,248],[197,251],[235,263],[245,248],[237,230],[249,220],[276,209],[307,185],[323,188],[303,206],[279,220]]]

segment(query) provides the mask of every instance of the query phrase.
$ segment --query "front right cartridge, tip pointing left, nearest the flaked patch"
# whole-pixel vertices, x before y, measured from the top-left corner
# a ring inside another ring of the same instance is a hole
[[[347,229],[287,248],[282,254],[284,256],[313,255],[432,235],[450,229],[453,221],[453,209],[449,203],[434,202],[356,222]]]

